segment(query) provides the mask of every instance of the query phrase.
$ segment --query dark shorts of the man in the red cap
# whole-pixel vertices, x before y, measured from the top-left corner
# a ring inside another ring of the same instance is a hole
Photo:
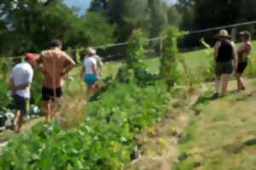
[[[15,109],[20,111],[20,114],[26,115],[29,111],[29,99],[15,95]]]

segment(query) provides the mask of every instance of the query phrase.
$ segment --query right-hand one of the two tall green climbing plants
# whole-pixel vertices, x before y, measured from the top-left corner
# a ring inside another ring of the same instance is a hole
[[[160,59],[160,78],[171,88],[179,77],[177,68],[178,48],[177,37],[185,32],[178,31],[177,27],[169,26],[166,29],[166,39],[163,45],[163,54]]]

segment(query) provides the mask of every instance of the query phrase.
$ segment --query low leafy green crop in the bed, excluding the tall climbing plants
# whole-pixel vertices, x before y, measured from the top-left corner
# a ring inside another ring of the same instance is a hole
[[[162,87],[112,84],[102,99],[87,105],[84,123],[75,130],[39,123],[11,140],[0,169],[119,170],[137,150],[132,133],[160,122],[169,99]]]

